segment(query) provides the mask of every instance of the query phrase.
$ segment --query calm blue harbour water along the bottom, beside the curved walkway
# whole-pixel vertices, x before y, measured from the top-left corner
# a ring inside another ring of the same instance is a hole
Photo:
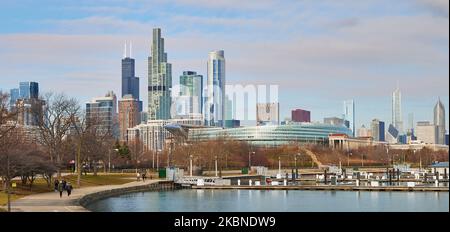
[[[125,194],[87,208],[94,212],[448,212],[449,193],[185,189]]]

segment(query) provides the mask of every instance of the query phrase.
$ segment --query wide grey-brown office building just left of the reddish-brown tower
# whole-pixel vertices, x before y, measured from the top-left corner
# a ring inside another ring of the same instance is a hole
[[[102,135],[119,138],[117,97],[114,92],[110,91],[104,97],[96,97],[87,102],[86,118],[88,123],[98,126]]]

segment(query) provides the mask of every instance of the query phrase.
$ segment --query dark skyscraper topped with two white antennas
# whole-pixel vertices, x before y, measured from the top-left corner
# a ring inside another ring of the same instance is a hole
[[[122,97],[131,95],[134,99],[139,100],[139,77],[135,76],[135,61],[127,54],[127,45],[125,44],[124,57],[122,59]]]

